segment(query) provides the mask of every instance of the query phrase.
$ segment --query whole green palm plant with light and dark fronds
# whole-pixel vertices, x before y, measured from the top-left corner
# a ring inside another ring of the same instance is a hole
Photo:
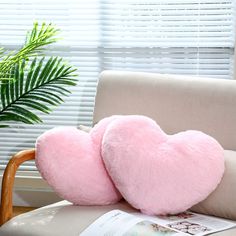
[[[52,106],[63,102],[61,96],[70,93],[66,87],[76,85],[73,66],[62,58],[43,56],[58,33],[51,24],[34,23],[20,50],[0,48],[0,128],[10,121],[42,122],[34,111],[51,112]]]

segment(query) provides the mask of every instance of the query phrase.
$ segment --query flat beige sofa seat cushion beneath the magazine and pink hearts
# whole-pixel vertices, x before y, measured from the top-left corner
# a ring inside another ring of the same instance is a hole
[[[126,202],[110,206],[73,206],[61,201],[14,217],[0,228],[1,236],[72,236],[79,235],[98,217],[113,209],[135,212]],[[236,235],[236,229],[214,236]]]

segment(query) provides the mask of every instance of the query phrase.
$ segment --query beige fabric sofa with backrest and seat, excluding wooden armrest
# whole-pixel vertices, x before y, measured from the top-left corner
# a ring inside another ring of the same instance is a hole
[[[217,189],[193,210],[236,220],[236,81],[105,71],[101,74],[94,123],[113,114],[143,114],[169,134],[187,129],[215,137],[225,149],[226,172]],[[121,201],[111,206],[73,206],[67,201],[12,218],[1,236],[72,236],[111,209],[135,211]],[[236,235],[236,229],[214,234]]]

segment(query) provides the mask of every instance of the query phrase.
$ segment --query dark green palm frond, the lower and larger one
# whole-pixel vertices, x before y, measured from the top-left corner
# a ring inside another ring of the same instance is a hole
[[[29,64],[25,60],[16,63],[13,75],[16,82],[1,85],[0,125],[6,121],[42,122],[32,110],[49,113],[51,106],[62,103],[61,95],[69,94],[65,85],[76,85],[75,70],[57,57],[46,63],[45,58]]]

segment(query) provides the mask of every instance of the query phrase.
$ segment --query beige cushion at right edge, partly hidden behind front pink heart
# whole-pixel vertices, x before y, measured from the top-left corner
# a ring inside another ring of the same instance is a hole
[[[225,150],[225,173],[218,187],[193,211],[236,220],[236,151]],[[235,234],[236,235],[236,234]]]

